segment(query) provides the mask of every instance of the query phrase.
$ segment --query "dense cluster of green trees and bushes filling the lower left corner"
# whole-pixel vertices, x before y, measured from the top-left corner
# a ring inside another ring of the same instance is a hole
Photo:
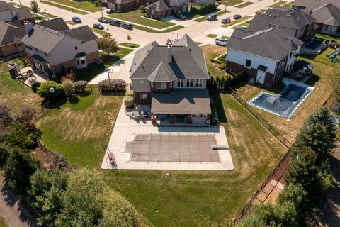
[[[54,152],[40,160],[42,133],[33,118],[33,109],[23,108],[13,117],[0,105],[0,170],[5,184],[39,212],[38,226],[142,225],[130,202],[95,170],[73,167]]]

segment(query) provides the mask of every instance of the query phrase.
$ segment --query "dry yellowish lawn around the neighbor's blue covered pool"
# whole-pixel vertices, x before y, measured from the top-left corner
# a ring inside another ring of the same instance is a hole
[[[285,135],[290,142],[295,140],[295,136],[297,135],[301,124],[305,121],[307,116],[312,113],[315,109],[321,107],[328,99],[331,94],[330,84],[327,79],[327,75],[332,70],[332,67],[329,65],[324,65],[318,62],[312,62],[314,66],[314,75],[307,80],[306,84],[310,86],[314,86],[315,89],[307,97],[307,99],[302,102],[301,106],[295,111],[293,118],[291,121],[287,121],[285,118],[276,116],[274,114],[270,114],[267,111],[263,111],[261,109],[254,108],[263,118],[266,118],[269,123],[273,127],[276,127],[278,131],[281,131],[283,135]],[[261,91],[272,92],[275,94],[279,94],[280,91],[283,90],[285,85],[277,84],[272,88],[263,87],[263,86],[252,86],[249,84],[244,84],[242,87],[237,88],[237,92],[239,95],[243,97],[245,101],[249,101],[254,96],[259,94]]]

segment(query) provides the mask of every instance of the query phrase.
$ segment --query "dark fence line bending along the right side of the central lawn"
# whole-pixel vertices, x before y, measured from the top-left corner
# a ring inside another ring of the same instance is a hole
[[[292,147],[293,144],[290,143],[290,141],[287,140],[278,130],[276,130],[276,128],[273,128],[273,126],[271,126],[271,124],[268,123],[268,121],[266,121],[265,118],[263,118],[260,114],[258,114],[252,106],[250,106],[246,101],[244,101],[244,99],[242,99],[242,97],[239,96],[239,94],[237,94],[237,92],[234,89],[232,89],[232,87],[228,87],[228,89],[229,89],[230,94],[232,94],[232,96],[234,96],[234,98],[237,99],[237,101],[239,101],[239,103],[242,104],[242,106],[244,106],[265,128],[268,129],[268,131],[271,134],[273,134],[283,145],[285,145],[286,148],[288,148],[287,153],[285,153],[285,155],[280,159],[280,162],[278,162],[276,167],[274,167],[274,169],[271,171],[268,177],[266,177],[266,179],[263,181],[261,186],[251,196],[251,199],[248,201],[246,206],[244,206],[244,208],[239,213],[239,215],[234,219],[234,223],[236,223],[237,221],[239,221],[241,218],[243,218],[247,214],[251,205],[254,204],[254,201],[257,199],[257,196],[262,192],[264,187],[266,187],[268,182],[270,182],[273,175],[276,175],[276,172],[281,167],[281,165],[283,165],[283,162],[285,162],[285,160],[289,158],[290,148]],[[278,178],[283,177],[283,173],[282,175],[277,176],[277,177]]]

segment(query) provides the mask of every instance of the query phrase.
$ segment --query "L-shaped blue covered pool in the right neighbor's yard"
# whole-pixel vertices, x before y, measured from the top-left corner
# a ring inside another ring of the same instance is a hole
[[[256,106],[272,114],[290,119],[300,104],[313,91],[314,87],[302,87],[288,84],[278,96],[261,92],[249,101],[249,105]]]

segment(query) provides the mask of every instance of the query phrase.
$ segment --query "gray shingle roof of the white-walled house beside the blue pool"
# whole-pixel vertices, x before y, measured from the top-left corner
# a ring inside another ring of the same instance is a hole
[[[235,29],[227,43],[227,48],[273,60],[282,60],[302,44],[302,41],[290,37],[277,27],[257,32]]]

